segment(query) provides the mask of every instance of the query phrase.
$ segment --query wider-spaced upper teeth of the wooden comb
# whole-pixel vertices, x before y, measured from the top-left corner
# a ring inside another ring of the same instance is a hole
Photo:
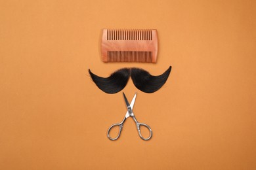
[[[151,40],[151,29],[108,29],[107,40]]]

